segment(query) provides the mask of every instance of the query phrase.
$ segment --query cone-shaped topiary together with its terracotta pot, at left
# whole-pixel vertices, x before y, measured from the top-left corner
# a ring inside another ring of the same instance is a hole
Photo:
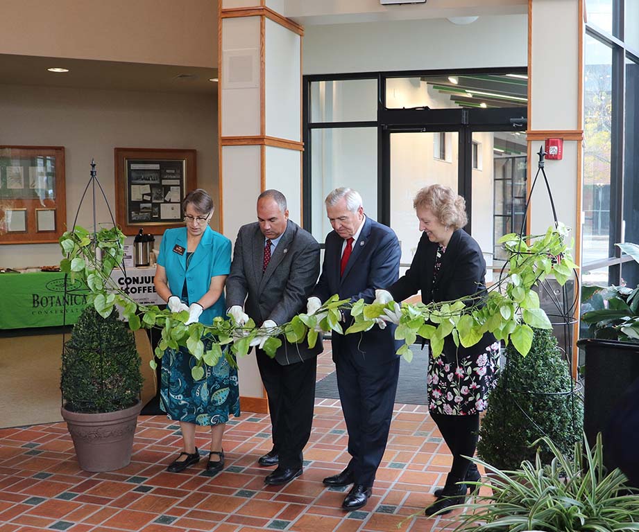
[[[133,332],[117,318],[88,306],[62,353],[62,417],[80,468],[112,471],[130,462],[142,409],[141,360]]]

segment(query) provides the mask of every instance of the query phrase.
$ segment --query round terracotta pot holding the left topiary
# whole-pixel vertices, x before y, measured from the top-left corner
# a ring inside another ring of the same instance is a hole
[[[82,414],[60,408],[85,471],[113,471],[128,465],[142,402],[106,414]]]

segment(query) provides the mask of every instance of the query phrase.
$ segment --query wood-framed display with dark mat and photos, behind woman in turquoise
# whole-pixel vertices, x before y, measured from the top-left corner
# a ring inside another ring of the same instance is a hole
[[[197,188],[196,153],[115,148],[115,216],[125,235],[161,235],[184,224],[182,199]]]

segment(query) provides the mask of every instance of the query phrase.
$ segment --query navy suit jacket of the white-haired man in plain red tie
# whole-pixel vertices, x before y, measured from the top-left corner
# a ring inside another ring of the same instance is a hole
[[[375,289],[389,286],[398,278],[402,251],[397,236],[393,229],[367,216],[344,275],[340,276],[343,242],[343,238],[335,231],[328,233],[322,274],[313,295],[322,302],[333,294],[339,294],[340,299],[350,299],[353,303],[362,298],[366,303],[373,303]],[[352,322],[350,313],[345,314],[346,323],[342,323],[344,330]],[[397,356],[395,351],[401,345],[401,342],[395,342],[394,333],[395,326],[388,326],[384,330],[374,326],[362,334],[333,334],[333,360],[343,351],[360,353],[373,363],[393,360]]]

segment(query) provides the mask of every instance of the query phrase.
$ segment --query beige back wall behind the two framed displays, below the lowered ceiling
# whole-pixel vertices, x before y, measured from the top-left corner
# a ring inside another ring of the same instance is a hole
[[[90,177],[92,157],[115,214],[116,147],[196,149],[198,186],[219,204],[217,94],[0,85],[0,116],[0,145],[65,147],[69,225]],[[104,202],[96,211],[98,222],[110,223]],[[90,198],[83,203],[78,224],[92,225]],[[217,218],[212,226],[218,227]],[[128,238],[127,243],[132,241]],[[0,245],[2,267],[53,265],[60,258],[56,244]]]

